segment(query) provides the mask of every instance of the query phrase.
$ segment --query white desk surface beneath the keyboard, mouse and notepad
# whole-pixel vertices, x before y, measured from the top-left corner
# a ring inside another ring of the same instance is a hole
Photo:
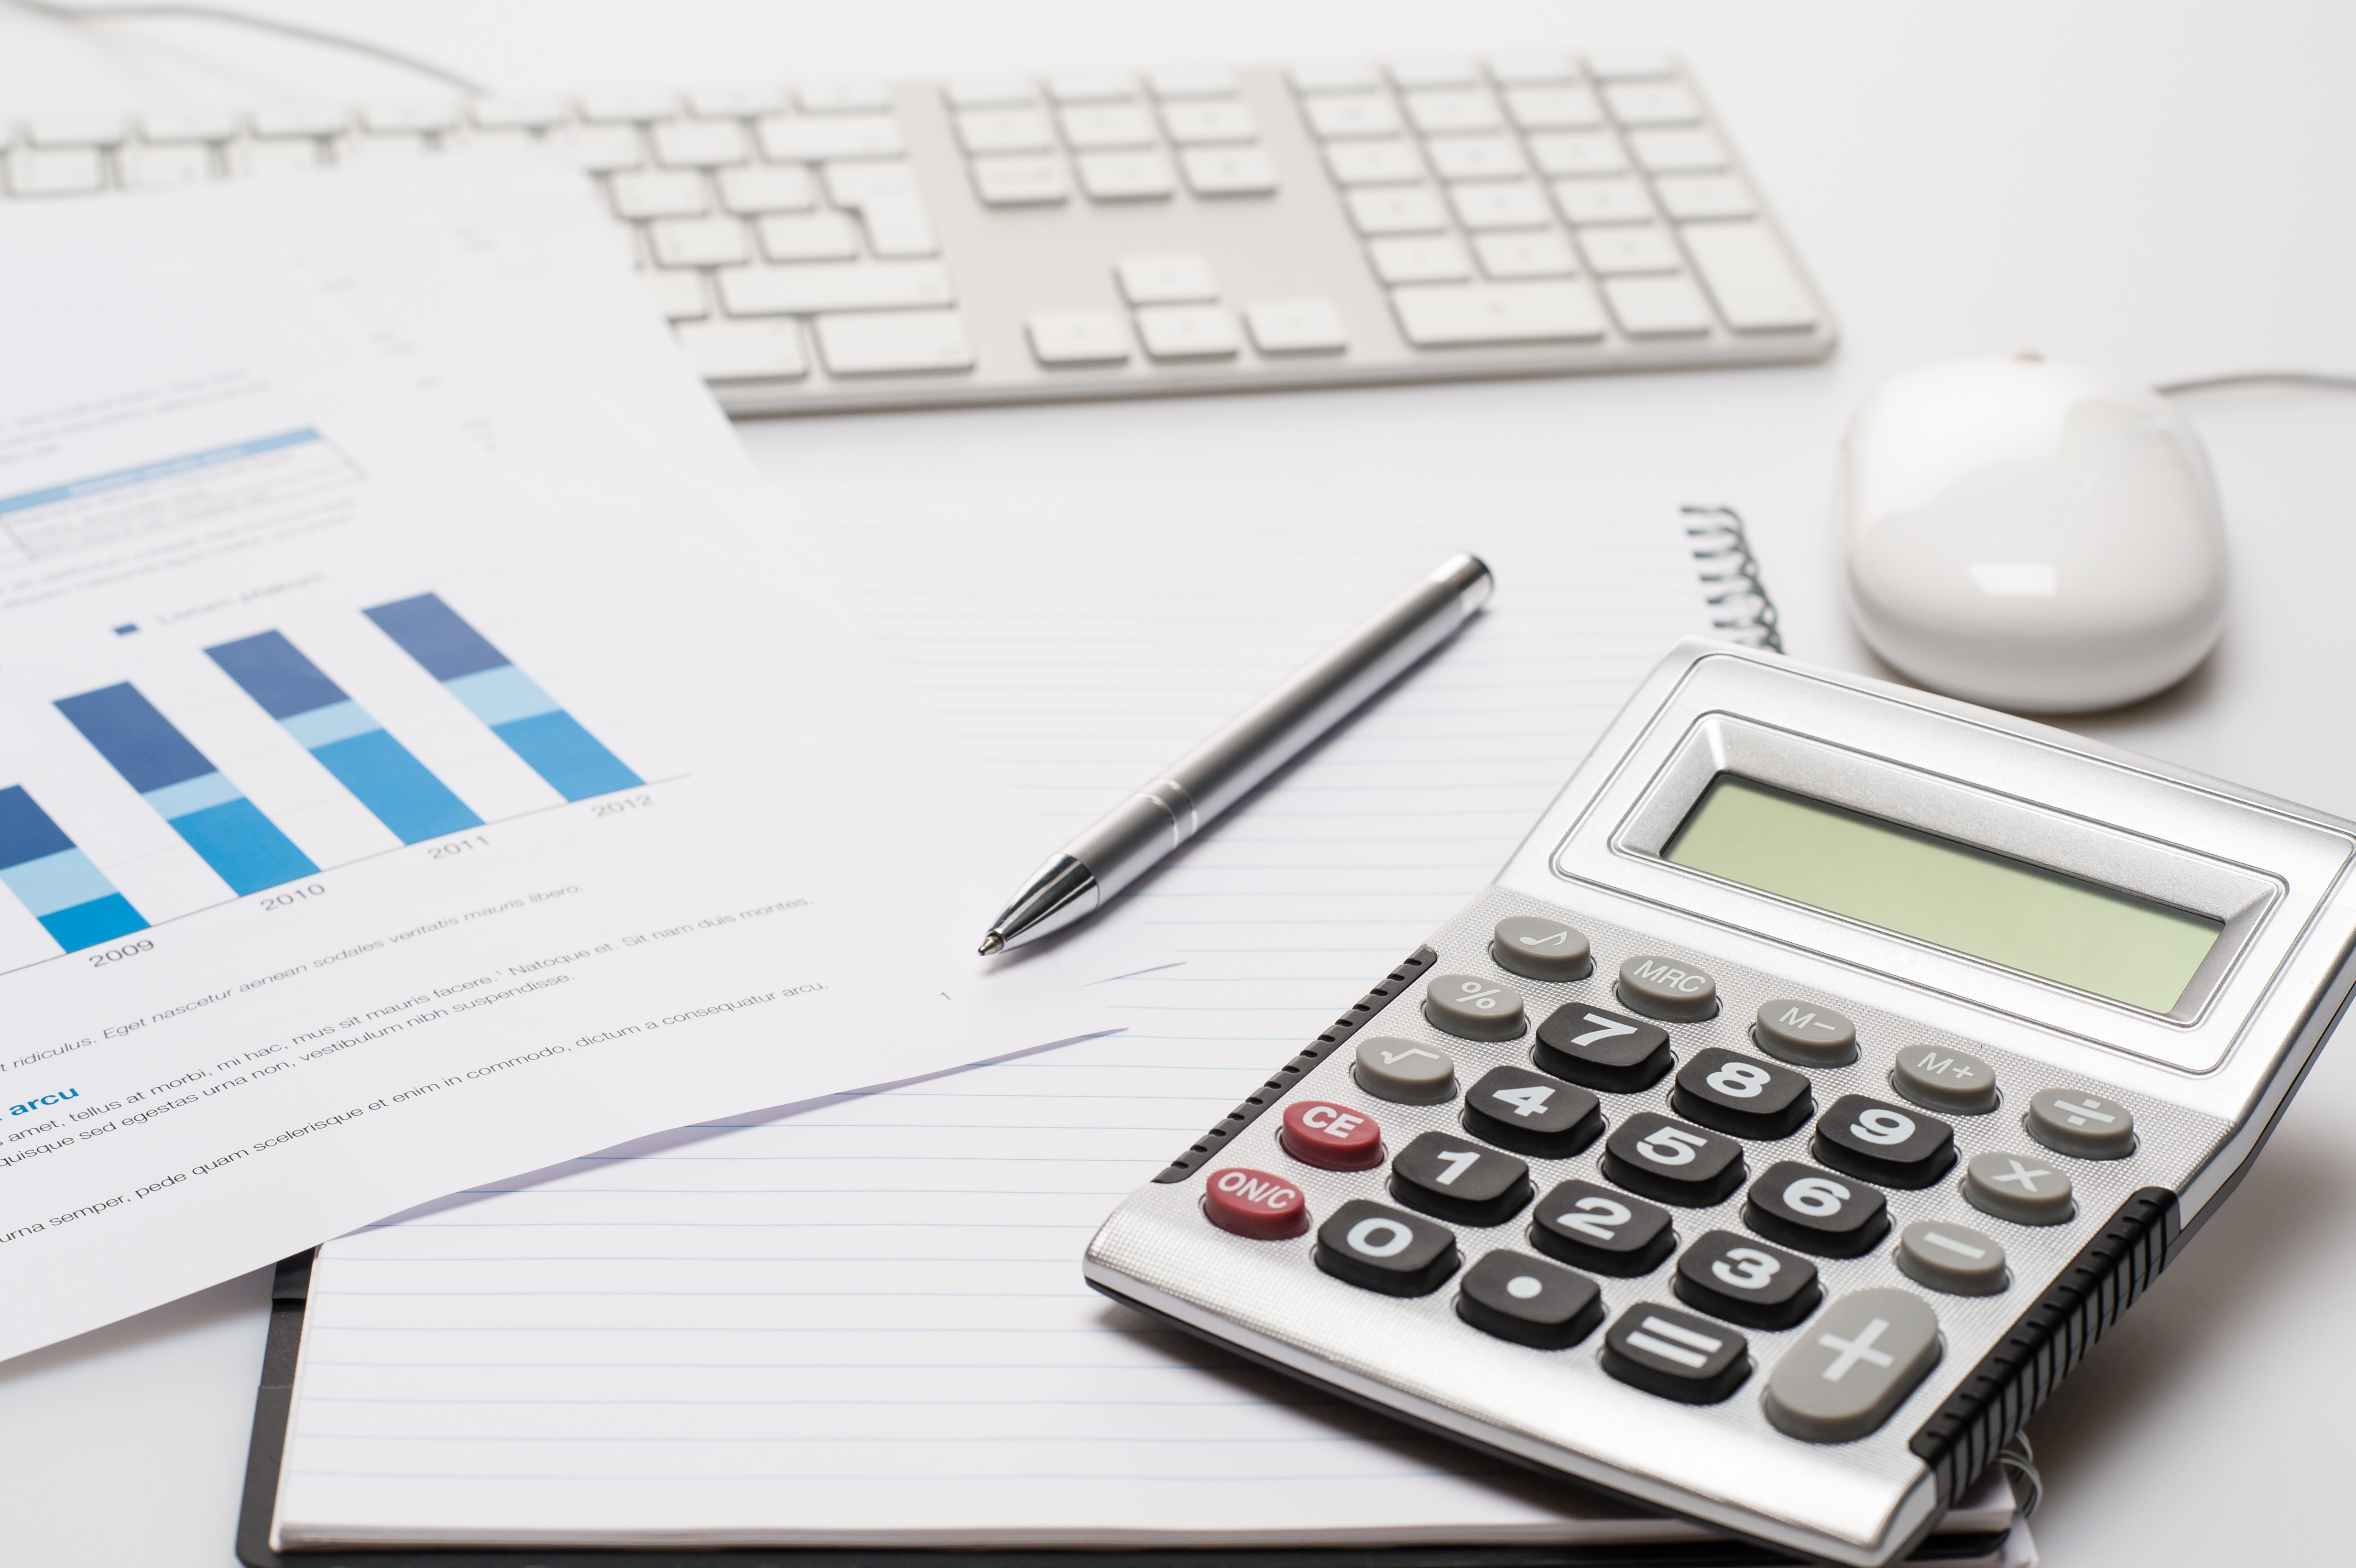
[[[1882,377],[2014,348],[2151,379],[2356,370],[2356,12],[2314,0],[252,5],[499,87],[742,80],[754,59],[780,78],[907,78],[1670,45],[1842,318],[1828,365],[740,428],[777,480],[1677,478],[1751,518],[1791,652],[1849,669],[1873,662],[1835,598],[1833,450]],[[7,111],[415,89],[200,21],[61,28],[0,2]],[[2193,410],[2233,530],[2231,629],[2179,690],[2083,727],[2356,817],[2356,398]],[[2325,1052],[2226,1215],[2031,1424],[2047,1561],[2347,1549],[2328,1542],[2356,1457],[2351,1050]],[[0,1556],[231,1568],[264,1300],[247,1276],[0,1366]]]

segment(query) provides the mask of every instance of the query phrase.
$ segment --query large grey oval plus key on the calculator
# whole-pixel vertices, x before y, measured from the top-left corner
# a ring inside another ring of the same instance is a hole
[[[1906,1290],[1854,1290],[1767,1375],[1767,1420],[1802,1443],[1861,1439],[1939,1366],[1939,1314]]]

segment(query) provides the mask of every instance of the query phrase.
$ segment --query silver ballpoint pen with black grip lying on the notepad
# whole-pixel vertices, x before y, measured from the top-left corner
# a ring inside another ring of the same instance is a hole
[[[1023,885],[1006,913],[990,923],[982,954],[1037,942],[1100,909],[1251,793],[1253,784],[1447,643],[1489,600],[1494,586],[1480,556],[1442,560],[1407,593],[1178,758],[1164,777],[1063,845]]]

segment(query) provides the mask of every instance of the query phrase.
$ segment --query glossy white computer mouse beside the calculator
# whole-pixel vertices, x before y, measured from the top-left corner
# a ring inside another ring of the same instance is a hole
[[[2217,483],[2149,386],[2033,356],[1906,372],[1857,410],[1835,501],[1873,652],[1998,709],[2111,709],[2224,631]]]

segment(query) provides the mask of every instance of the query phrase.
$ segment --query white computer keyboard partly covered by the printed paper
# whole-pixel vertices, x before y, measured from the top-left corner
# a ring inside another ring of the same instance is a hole
[[[1666,54],[0,120],[19,200],[535,139],[737,414],[1833,348]]]

